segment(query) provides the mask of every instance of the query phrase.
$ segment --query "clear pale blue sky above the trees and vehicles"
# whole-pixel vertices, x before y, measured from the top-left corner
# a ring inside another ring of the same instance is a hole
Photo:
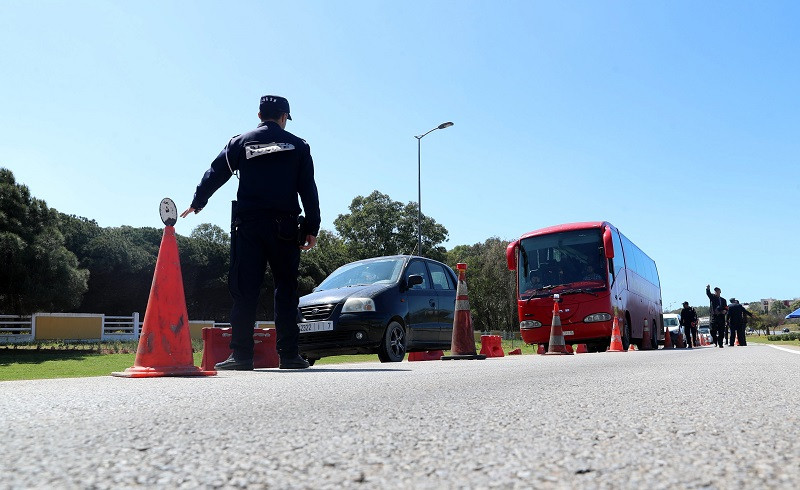
[[[608,220],[664,306],[800,296],[800,3],[0,2],[0,166],[59,211],[161,226],[286,96],[323,228],[373,190],[445,246]],[[202,213],[227,227],[230,181]]]

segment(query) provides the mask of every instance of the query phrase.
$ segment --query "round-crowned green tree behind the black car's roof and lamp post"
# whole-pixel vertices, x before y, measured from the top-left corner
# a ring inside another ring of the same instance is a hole
[[[388,195],[373,191],[357,196],[350,204],[350,214],[340,214],[334,221],[347,255],[352,260],[386,255],[410,254],[417,245],[417,204],[405,206]],[[422,217],[422,247],[426,257],[444,260],[447,229],[427,216]]]

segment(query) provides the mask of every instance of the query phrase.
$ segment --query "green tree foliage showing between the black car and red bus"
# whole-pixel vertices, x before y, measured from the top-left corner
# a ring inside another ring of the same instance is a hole
[[[467,264],[470,314],[477,330],[513,330],[519,325],[516,276],[506,265],[508,242],[493,237],[447,253],[451,267]]]

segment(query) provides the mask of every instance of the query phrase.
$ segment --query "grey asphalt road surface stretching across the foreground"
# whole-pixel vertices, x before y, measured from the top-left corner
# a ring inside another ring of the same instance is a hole
[[[0,488],[800,488],[763,345],[0,383]]]

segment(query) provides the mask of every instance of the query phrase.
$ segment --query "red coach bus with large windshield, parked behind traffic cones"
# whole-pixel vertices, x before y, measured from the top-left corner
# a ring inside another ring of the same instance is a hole
[[[526,343],[549,342],[558,294],[565,343],[605,351],[616,314],[626,350],[631,343],[642,347],[645,321],[650,347],[658,348],[663,320],[656,263],[611,223],[531,231],[508,244],[506,260],[517,271],[519,328]]]

